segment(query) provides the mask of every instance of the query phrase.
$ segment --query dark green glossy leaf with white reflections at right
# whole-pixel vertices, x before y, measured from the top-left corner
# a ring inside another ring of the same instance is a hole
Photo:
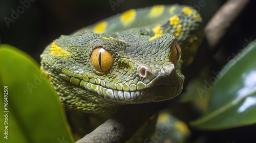
[[[256,41],[221,70],[210,90],[205,114],[191,125],[220,130],[256,123]]]

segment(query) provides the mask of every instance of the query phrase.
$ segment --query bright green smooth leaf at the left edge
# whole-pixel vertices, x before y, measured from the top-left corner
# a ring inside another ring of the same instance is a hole
[[[39,65],[15,47],[0,45],[0,66],[0,142],[74,142],[63,109]],[[8,134],[4,134],[6,129]]]

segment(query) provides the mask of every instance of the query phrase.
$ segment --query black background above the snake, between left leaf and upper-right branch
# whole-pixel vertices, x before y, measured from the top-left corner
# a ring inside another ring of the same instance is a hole
[[[22,2],[29,0],[21,0]],[[32,0],[31,0],[32,1]],[[224,3],[223,1],[205,0],[204,7],[199,6],[198,1],[131,1],[112,0],[121,2],[112,9],[111,1],[39,1],[33,0],[30,6],[22,14],[19,14],[14,22],[6,24],[4,17],[11,18],[12,11],[17,11],[22,4],[17,0],[5,0],[0,2],[0,36],[2,44],[10,44],[31,55],[37,62],[39,55],[47,44],[60,35],[68,35],[72,32],[91,25],[103,18],[124,12],[132,8],[150,7],[153,5],[185,4],[196,7],[207,22],[211,16]]]

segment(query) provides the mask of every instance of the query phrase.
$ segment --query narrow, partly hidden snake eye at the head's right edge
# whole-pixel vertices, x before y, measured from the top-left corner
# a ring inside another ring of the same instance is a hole
[[[174,65],[176,65],[180,61],[180,57],[181,57],[180,45],[176,41],[174,41],[172,45],[172,53],[170,53],[170,61]]]

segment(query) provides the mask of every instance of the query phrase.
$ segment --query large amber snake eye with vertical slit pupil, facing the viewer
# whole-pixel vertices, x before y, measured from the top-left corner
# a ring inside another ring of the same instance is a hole
[[[101,72],[110,70],[114,64],[114,60],[110,52],[106,51],[102,47],[97,47],[93,50],[91,61],[93,67]]]

